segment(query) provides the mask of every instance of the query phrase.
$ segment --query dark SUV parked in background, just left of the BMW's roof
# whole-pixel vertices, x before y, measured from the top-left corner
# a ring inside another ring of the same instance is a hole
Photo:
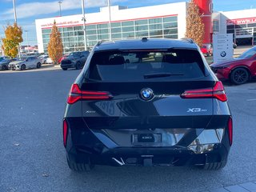
[[[70,53],[67,58],[64,58],[61,62],[62,70],[67,70],[69,68],[75,68],[77,70],[82,69],[89,54],[90,52],[86,50]]]

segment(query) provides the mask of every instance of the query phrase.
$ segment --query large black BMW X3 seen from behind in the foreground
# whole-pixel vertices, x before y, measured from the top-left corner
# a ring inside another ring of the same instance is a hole
[[[226,166],[232,130],[222,82],[200,48],[190,39],[142,38],[94,46],[71,86],[63,142],[71,170],[218,170]]]

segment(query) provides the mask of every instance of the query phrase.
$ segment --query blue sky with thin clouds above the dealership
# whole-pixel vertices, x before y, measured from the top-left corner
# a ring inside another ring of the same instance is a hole
[[[111,0],[112,5],[128,6],[129,8],[139,6],[152,6],[171,2],[184,2],[187,0]],[[106,6],[106,0],[85,0],[86,13],[98,12],[99,7]],[[245,10],[256,9],[255,0],[213,0],[214,10]],[[14,22],[12,0],[0,0],[0,38],[4,37],[3,27],[7,23]],[[50,18],[59,15],[58,1],[50,0],[16,0],[18,25],[23,30],[28,30],[28,41],[30,45],[36,45],[36,32],[34,20],[37,18]],[[81,14],[81,0],[63,0],[62,15]],[[26,33],[24,42],[26,44]]]

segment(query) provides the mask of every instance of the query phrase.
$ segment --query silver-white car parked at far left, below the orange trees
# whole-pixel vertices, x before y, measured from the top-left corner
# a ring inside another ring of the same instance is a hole
[[[22,57],[15,62],[10,62],[9,69],[10,70],[26,70],[32,68],[40,68],[42,65],[41,59],[30,56],[30,57]]]

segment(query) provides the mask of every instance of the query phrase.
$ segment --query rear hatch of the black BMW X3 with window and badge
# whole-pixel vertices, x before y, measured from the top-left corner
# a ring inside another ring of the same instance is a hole
[[[82,116],[118,146],[188,146],[213,116],[215,83],[198,50],[94,52],[80,85],[89,94]]]

